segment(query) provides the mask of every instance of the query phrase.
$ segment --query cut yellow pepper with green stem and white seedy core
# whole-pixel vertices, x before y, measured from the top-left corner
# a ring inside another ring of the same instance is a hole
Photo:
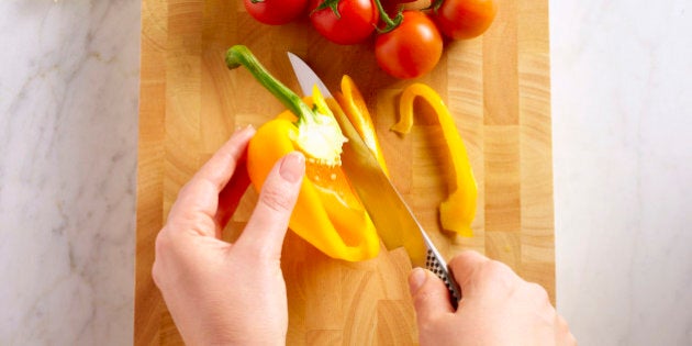
[[[332,110],[315,88],[305,103],[274,79],[244,46],[226,54],[230,68],[244,65],[289,110],[263,124],[250,139],[247,170],[260,190],[275,163],[286,154],[305,155],[305,178],[289,227],[330,257],[349,261],[373,258],[380,249],[370,216],[341,167],[345,141]]]

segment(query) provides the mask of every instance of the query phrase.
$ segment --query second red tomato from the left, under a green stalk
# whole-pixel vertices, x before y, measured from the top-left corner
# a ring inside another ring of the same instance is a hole
[[[322,3],[338,1],[336,9],[331,7],[316,10]],[[337,44],[356,44],[370,37],[380,20],[380,12],[371,0],[312,0],[310,21],[322,36]]]

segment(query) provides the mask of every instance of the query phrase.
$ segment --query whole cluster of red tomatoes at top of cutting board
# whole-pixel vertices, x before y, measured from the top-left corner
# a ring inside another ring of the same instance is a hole
[[[247,12],[265,24],[287,24],[308,14],[313,27],[337,44],[376,35],[378,65],[402,79],[425,75],[437,65],[443,34],[451,40],[476,37],[490,26],[498,9],[494,0],[432,0],[422,10],[402,10],[403,2],[415,0],[244,1]]]

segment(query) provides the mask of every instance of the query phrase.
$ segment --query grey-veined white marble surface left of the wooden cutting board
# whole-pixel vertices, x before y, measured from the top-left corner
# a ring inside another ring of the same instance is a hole
[[[139,1],[0,1],[0,345],[127,345]]]

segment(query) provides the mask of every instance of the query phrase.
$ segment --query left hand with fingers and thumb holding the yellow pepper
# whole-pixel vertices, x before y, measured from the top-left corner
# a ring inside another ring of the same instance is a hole
[[[305,163],[280,159],[234,244],[221,232],[249,185],[255,130],[236,132],[180,190],[156,238],[152,275],[188,345],[283,345],[288,330],[281,246]]]

